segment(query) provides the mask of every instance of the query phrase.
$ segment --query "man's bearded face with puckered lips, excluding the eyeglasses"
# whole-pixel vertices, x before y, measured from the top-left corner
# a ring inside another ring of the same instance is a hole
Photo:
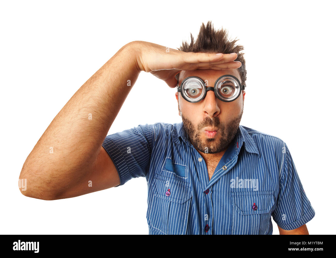
[[[198,69],[181,71],[179,86],[189,76],[197,76],[206,87],[214,87],[215,81],[222,75],[229,74],[237,77],[242,82],[237,69],[213,70]],[[220,153],[225,150],[235,137],[243,115],[244,90],[237,99],[224,102],[216,98],[215,93],[209,90],[204,99],[196,103],[186,101],[179,92],[176,92],[178,112],[182,117],[183,127],[191,143],[202,153]],[[214,129],[213,129],[214,128]],[[216,132],[209,132],[209,131]],[[206,132],[208,131],[208,132]]]

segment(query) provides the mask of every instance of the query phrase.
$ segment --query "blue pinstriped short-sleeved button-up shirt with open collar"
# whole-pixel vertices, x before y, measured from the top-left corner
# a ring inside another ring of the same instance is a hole
[[[182,122],[139,125],[102,146],[120,185],[146,177],[149,234],[272,234],[271,216],[291,230],[315,215],[287,144],[242,125],[211,180]]]

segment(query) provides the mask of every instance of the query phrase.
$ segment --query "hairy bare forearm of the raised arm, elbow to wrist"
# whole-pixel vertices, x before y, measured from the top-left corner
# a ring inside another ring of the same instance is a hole
[[[139,73],[131,42],[77,90],[23,165],[19,178],[27,179],[26,196],[52,197],[90,171]]]

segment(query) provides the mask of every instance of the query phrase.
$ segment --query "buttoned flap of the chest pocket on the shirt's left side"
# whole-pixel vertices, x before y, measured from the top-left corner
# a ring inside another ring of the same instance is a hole
[[[167,201],[184,203],[192,197],[191,188],[186,182],[179,182],[174,178],[155,175],[154,195]],[[170,191],[167,196],[166,192]]]

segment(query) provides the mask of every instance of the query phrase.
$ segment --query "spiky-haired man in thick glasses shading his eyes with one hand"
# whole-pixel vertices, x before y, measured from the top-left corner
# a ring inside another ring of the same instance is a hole
[[[280,234],[308,234],[315,212],[286,143],[240,125],[243,47],[211,22],[191,38],[179,50],[144,41],[122,47],[39,139],[20,174],[22,193],[57,200],[143,176],[150,234],[272,234],[271,216]],[[182,123],[106,136],[141,71],[178,86]]]

